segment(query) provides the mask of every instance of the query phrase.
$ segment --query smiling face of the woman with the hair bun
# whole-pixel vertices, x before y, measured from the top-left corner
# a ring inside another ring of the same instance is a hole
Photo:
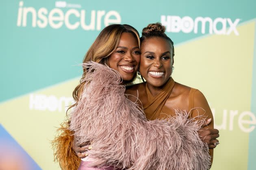
[[[163,86],[171,76],[172,45],[159,37],[148,38],[141,44],[140,72],[148,85]]]

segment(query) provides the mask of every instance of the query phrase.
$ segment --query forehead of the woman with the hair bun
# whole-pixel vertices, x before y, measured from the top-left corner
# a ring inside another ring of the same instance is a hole
[[[172,45],[161,37],[152,37],[143,41],[141,44],[141,51],[160,51],[166,52],[171,51]]]

